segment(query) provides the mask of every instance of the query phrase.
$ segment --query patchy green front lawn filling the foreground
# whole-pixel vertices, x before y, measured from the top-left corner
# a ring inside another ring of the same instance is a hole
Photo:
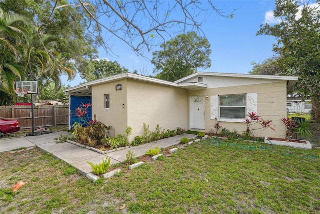
[[[26,184],[0,213],[320,212],[320,159],[305,158],[319,149],[226,143],[201,141],[95,183],[37,149],[1,153],[0,195]]]

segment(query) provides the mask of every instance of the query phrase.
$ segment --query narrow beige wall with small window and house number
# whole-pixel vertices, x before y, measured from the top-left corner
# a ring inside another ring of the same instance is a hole
[[[100,85],[94,85],[92,90],[92,118],[96,115],[96,120],[102,121],[105,125],[111,125],[116,134],[124,134],[127,124],[126,115],[126,82],[127,80],[117,80]],[[115,85],[122,84],[122,90],[115,90]],[[110,94],[110,109],[104,109],[104,94]],[[124,104],[124,108],[122,108]]]

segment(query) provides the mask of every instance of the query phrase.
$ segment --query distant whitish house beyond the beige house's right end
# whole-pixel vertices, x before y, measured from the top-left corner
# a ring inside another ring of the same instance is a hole
[[[286,110],[288,113],[309,113],[311,109],[311,99],[304,99],[303,97],[286,98]]]

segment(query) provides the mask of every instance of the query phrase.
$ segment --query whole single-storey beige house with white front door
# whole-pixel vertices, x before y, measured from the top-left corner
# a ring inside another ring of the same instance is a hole
[[[210,132],[215,118],[222,127],[240,134],[246,130],[247,112],[272,120],[275,131],[254,130],[257,137],[284,137],[281,118],[286,116],[286,95],[297,77],[197,72],[175,82],[122,73],[65,89],[70,112],[91,102],[92,118],[123,134],[133,128],[131,139],[143,134],[143,123],[153,131],[165,129]],[[91,115],[89,115],[91,116]],[[69,126],[74,121],[70,116]],[[260,128],[260,126],[255,126]]]

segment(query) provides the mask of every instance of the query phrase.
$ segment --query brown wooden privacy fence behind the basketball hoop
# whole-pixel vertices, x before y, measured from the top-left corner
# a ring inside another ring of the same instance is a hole
[[[31,106],[0,106],[0,117],[17,118],[21,129],[32,128]],[[68,105],[33,106],[34,127],[67,125]]]

